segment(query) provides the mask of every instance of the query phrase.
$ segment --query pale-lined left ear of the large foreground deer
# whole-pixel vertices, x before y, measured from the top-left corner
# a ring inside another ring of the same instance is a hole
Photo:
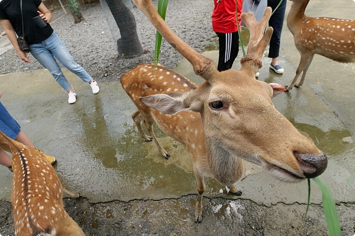
[[[190,106],[184,103],[183,92],[162,93],[151,95],[148,97],[139,98],[140,102],[146,106],[165,114],[175,114],[181,111],[189,111]]]

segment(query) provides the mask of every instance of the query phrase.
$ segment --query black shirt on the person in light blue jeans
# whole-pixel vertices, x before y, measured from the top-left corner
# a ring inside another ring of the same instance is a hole
[[[25,40],[29,45],[42,42],[53,33],[48,23],[40,28],[32,19],[39,15],[37,11],[41,3],[41,0],[22,0],[23,30]],[[0,0],[0,19],[10,20],[16,34],[22,36],[20,0]]]

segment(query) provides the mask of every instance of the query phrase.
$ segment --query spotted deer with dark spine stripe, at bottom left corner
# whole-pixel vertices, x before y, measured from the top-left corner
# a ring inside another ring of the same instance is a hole
[[[16,236],[85,236],[63,208],[62,192],[72,198],[53,167],[37,149],[15,141],[0,131],[0,149],[12,153],[14,172],[11,203]]]

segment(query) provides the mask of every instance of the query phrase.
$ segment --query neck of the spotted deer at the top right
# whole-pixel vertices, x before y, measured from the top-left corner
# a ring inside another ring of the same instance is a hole
[[[299,28],[298,23],[302,22],[306,18],[304,11],[306,10],[308,2],[309,0],[296,0],[292,2],[291,9],[287,17],[287,26],[293,34]]]

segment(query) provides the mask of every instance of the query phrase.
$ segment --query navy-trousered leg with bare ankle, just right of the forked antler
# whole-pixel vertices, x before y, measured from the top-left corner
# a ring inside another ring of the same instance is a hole
[[[272,10],[274,10],[279,2],[280,0],[268,0],[268,7],[271,7]],[[277,65],[277,57],[279,56],[281,31],[283,20],[285,18],[286,2],[287,0],[282,1],[278,9],[274,12],[274,14],[272,14],[269,20],[269,26],[274,29],[270,39],[270,49],[268,55],[269,58],[272,58],[271,64],[273,66]]]

